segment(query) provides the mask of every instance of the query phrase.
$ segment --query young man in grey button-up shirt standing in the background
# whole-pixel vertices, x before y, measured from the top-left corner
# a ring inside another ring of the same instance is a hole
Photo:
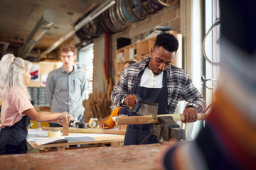
[[[51,112],[68,112],[74,115],[74,120],[84,121],[85,108],[85,73],[75,66],[77,57],[75,47],[65,45],[60,47],[60,60],[63,66],[48,74],[46,80],[46,101]],[[50,127],[58,124],[50,123]]]

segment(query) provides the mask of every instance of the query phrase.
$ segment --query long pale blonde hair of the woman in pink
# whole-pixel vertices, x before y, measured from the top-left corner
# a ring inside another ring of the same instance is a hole
[[[28,72],[31,67],[32,63],[27,60],[11,54],[4,55],[0,61],[0,98],[8,98],[9,89],[20,87],[31,100],[28,88],[23,80],[23,74]]]

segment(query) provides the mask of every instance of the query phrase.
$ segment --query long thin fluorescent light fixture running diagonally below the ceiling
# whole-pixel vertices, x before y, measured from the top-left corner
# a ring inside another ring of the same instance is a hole
[[[44,56],[46,56],[49,52],[53,51],[56,47],[58,47],[58,45],[60,45],[60,43],[62,43],[63,41],[67,40],[68,38],[70,38],[72,35],[75,34],[75,32],[77,30],[79,30],[80,28],[82,28],[83,26],[85,26],[86,23],[92,21],[94,18],[96,18],[97,16],[100,16],[101,13],[103,13],[104,11],[107,10],[107,8],[110,8],[110,6],[114,5],[115,1],[113,0],[108,0],[105,1],[105,3],[103,3],[101,6],[99,6],[98,8],[95,9],[95,11],[93,11],[92,13],[90,13],[89,16],[87,16],[86,18],[84,18],[82,21],[80,21],[80,23],[78,23],[74,28],[72,28],[71,30],[68,31],[67,34],[63,35],[63,37],[61,37],[59,40],[57,40],[56,42],[54,42],[53,45],[51,45],[50,47],[48,47],[48,49],[46,51],[44,51],[41,54],[41,58],[43,58]]]

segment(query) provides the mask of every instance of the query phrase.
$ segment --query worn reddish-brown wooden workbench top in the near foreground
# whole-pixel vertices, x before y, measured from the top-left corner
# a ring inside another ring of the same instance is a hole
[[[159,150],[159,144],[151,144],[2,155],[0,169],[155,169]]]

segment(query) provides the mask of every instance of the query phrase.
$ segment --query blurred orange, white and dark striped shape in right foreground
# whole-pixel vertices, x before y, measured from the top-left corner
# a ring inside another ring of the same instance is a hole
[[[206,127],[164,148],[163,169],[256,169],[256,2],[220,1],[220,86]],[[184,164],[186,163],[186,164]]]

